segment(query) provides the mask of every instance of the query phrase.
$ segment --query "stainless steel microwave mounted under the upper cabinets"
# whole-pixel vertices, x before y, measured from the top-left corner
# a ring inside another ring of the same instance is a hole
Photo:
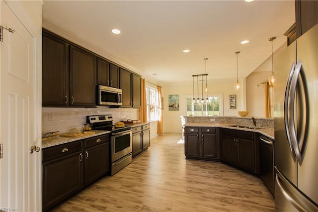
[[[121,106],[123,92],[121,89],[108,86],[97,86],[97,104],[107,106]]]

